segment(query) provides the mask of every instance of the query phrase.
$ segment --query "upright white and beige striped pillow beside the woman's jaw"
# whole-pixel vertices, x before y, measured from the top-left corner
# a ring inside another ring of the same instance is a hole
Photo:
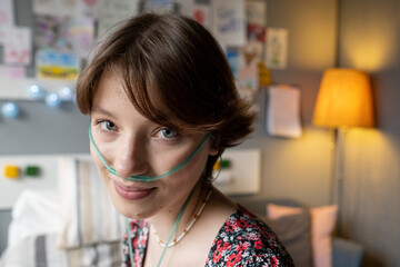
[[[123,217],[114,208],[107,188],[90,159],[60,158],[60,248],[122,240]]]

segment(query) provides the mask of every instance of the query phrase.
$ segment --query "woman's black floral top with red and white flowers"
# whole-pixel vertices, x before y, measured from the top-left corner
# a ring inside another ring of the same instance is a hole
[[[150,224],[148,220],[131,220],[130,228],[134,267],[141,267]],[[127,236],[126,234],[122,251],[123,266],[131,267]],[[239,207],[228,217],[218,233],[204,266],[291,267],[294,265],[272,230],[259,218]]]

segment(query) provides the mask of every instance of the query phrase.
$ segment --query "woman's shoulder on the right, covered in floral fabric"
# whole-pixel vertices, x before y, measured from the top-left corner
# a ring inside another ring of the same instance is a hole
[[[242,207],[228,217],[210,250],[207,266],[293,266],[273,231]]]

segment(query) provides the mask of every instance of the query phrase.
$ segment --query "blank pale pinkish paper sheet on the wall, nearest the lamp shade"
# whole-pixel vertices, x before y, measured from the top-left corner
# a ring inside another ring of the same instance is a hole
[[[271,86],[267,99],[267,132],[276,137],[300,137],[300,89],[289,85]]]

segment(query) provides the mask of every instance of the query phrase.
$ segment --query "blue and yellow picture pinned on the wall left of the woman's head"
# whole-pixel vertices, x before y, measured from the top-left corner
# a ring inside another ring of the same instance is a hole
[[[74,81],[79,75],[77,53],[38,50],[36,53],[37,78]]]

